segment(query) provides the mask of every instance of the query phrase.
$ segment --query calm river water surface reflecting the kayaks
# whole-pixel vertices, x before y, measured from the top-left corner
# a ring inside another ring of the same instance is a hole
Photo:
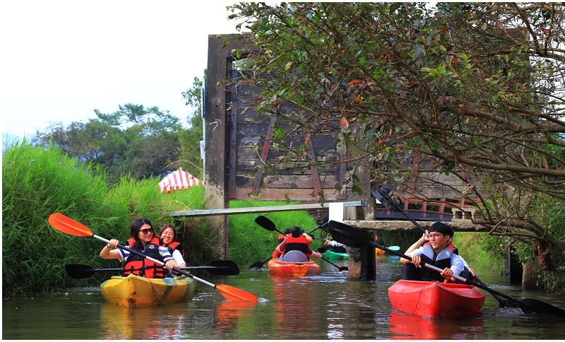
[[[126,309],[107,304],[99,284],[65,293],[2,302],[3,339],[563,339],[565,319],[498,308],[485,293],[480,317],[426,319],[393,311],[388,287],[400,264],[377,261],[375,282],[346,281],[346,272],[320,260],[319,276],[271,278],[242,269],[239,276],[206,277],[254,293],[257,305],[227,302],[198,283],[194,299],[176,305]],[[336,262],[340,266],[345,264]],[[481,275],[489,287],[513,297],[532,297],[565,308],[561,296],[522,293]]]

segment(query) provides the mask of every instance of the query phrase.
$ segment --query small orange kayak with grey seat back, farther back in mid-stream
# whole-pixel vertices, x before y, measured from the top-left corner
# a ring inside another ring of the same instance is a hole
[[[313,276],[320,271],[319,264],[308,260],[306,255],[299,251],[290,251],[283,259],[270,259],[267,266],[269,274],[273,276]]]

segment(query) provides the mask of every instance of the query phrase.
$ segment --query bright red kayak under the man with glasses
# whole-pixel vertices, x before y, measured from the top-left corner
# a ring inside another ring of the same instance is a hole
[[[479,314],[484,295],[474,286],[437,281],[397,281],[388,288],[393,309],[424,317]]]

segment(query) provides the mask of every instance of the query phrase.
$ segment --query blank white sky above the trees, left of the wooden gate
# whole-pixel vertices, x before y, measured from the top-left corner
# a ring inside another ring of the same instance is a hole
[[[0,4],[0,114],[31,138],[94,110],[157,106],[186,123],[181,93],[206,69],[208,35],[236,33],[234,1],[13,0]]]

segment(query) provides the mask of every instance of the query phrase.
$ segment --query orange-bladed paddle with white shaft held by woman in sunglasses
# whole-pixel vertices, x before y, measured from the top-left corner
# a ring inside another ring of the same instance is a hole
[[[64,232],[65,234],[68,235],[73,235],[73,236],[87,236],[87,237],[94,237],[97,240],[109,243],[109,240],[105,239],[104,237],[100,237],[98,235],[95,235],[90,228],[86,227],[85,225],[78,223],[76,220],[73,220],[72,218],[69,218],[67,216],[64,216],[61,213],[52,213],[49,216],[49,225],[51,225],[54,229],[59,230],[59,232]],[[151,260],[153,262],[155,262],[156,264],[159,264],[161,266],[165,265],[165,263],[163,263],[162,261],[159,261],[157,259],[153,259],[151,257],[147,257],[145,254],[141,253],[141,252],[137,252],[135,249],[130,249],[128,247],[122,246],[121,244],[118,244],[118,247],[121,249],[124,249],[130,253],[133,254],[137,254],[140,257],[144,257],[148,260]],[[173,269],[173,271],[177,271],[178,273],[184,274],[184,276],[187,276],[189,278],[193,278],[195,281],[199,281],[203,284],[209,285],[213,288],[215,288],[216,290],[218,290],[218,292],[224,296],[227,300],[245,300],[245,301],[249,301],[249,302],[257,302],[257,297],[252,294],[252,293],[248,293],[244,290],[241,290],[239,288],[234,288],[233,286],[230,285],[215,285],[213,283],[210,283],[208,281],[205,281],[201,278],[198,278],[196,276],[193,276],[191,273],[179,270],[179,269]]]

